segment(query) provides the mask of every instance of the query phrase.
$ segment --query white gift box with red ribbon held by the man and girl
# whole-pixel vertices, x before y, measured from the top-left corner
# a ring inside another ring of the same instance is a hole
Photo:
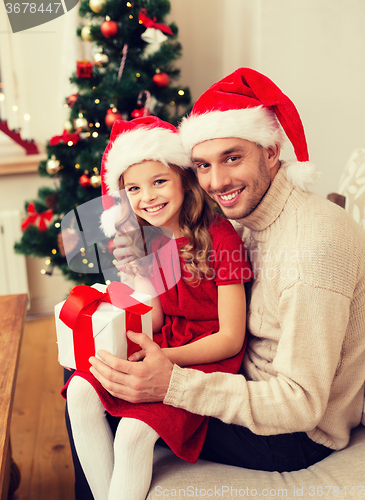
[[[126,331],[152,338],[151,311],[151,297],[124,283],[75,286],[55,306],[60,364],[88,372],[89,358],[99,349],[127,359],[140,347],[127,338]]]

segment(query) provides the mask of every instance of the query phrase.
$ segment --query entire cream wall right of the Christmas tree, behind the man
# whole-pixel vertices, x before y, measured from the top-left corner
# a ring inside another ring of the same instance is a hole
[[[315,191],[336,191],[351,152],[365,146],[365,2],[171,0],[171,6],[184,50],[182,83],[194,99],[240,66],[266,74],[302,117],[311,161],[322,173]]]

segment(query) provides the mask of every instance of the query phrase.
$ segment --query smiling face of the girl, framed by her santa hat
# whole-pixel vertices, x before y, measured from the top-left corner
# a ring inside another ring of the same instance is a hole
[[[185,195],[180,175],[159,161],[148,160],[127,168],[123,180],[133,211],[152,226],[167,227],[179,238]]]

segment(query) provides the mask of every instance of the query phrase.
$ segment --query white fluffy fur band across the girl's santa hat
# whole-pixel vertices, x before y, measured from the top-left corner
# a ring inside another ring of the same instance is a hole
[[[164,128],[140,127],[117,137],[105,164],[105,183],[112,196],[118,196],[120,176],[131,165],[145,160],[191,167],[190,155],[181,144],[179,134]]]

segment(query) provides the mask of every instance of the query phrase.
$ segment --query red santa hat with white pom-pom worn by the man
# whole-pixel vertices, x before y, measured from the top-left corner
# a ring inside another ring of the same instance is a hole
[[[318,173],[309,162],[300,116],[292,101],[261,73],[237,69],[212,85],[180,124],[181,140],[189,154],[201,142],[228,137],[264,148],[282,146],[283,130],[296,155],[296,161],[286,163],[286,175],[296,187],[306,190],[316,182]]]

